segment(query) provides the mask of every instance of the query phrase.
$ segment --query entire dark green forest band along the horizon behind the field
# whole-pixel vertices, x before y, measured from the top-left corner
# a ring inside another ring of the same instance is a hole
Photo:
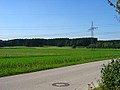
[[[0,47],[5,46],[28,46],[28,47],[43,47],[43,46],[72,46],[72,47],[92,47],[94,48],[120,48],[120,40],[99,41],[97,38],[55,38],[55,39],[14,39],[3,41],[0,40]]]

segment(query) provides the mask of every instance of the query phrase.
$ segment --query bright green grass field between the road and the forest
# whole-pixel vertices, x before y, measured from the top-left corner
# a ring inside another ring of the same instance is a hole
[[[0,48],[0,77],[119,57],[119,49],[5,47]]]

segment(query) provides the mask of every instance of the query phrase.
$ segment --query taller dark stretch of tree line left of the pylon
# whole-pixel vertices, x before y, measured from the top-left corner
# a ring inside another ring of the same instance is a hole
[[[93,42],[97,42],[97,38],[93,38]],[[29,47],[42,47],[42,46],[89,46],[91,38],[55,38],[55,39],[14,39],[7,41],[0,41],[0,46],[29,46]]]

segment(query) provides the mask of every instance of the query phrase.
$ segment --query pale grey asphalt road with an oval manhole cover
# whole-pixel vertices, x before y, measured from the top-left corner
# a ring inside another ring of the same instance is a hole
[[[88,84],[97,85],[101,65],[109,61],[39,71],[0,78],[0,90],[88,90]],[[57,86],[54,86],[58,83]],[[64,86],[67,83],[66,86]],[[53,85],[52,85],[53,84]]]

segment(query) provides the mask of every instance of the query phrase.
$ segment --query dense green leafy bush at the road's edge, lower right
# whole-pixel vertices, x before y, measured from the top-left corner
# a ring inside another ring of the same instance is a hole
[[[120,90],[120,59],[103,65],[101,73],[101,90]]]

